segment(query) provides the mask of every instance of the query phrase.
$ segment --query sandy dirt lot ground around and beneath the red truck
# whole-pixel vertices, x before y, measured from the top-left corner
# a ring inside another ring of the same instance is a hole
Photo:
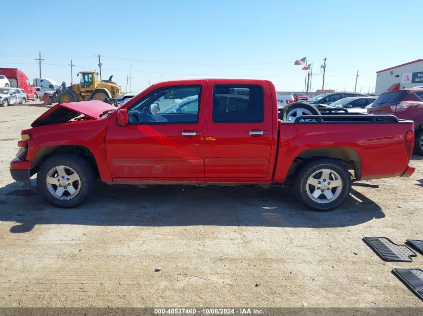
[[[423,239],[421,158],[328,213],[289,188],[101,183],[64,210],[10,177],[21,130],[47,110],[33,104],[0,108],[0,307],[422,306],[390,271],[423,256],[385,263],[361,240]]]

